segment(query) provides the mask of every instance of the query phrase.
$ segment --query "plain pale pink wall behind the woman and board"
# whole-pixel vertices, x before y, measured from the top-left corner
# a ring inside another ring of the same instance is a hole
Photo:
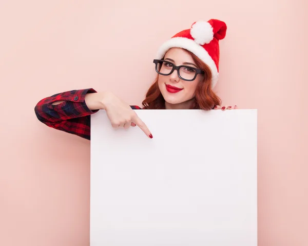
[[[0,2],[0,245],[89,245],[90,142],[37,101],[93,87],[141,105],[158,46],[209,18],[228,26],[217,93],[258,109],[259,245],[308,245],[306,1],[145,2]]]

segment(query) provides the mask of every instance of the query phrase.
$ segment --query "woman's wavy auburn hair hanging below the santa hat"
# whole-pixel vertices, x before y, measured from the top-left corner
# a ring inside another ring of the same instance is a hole
[[[185,49],[184,49],[185,50]],[[195,54],[187,51],[192,59],[196,62],[199,69],[203,70],[205,74],[203,75],[203,81],[201,81],[195,92],[195,102],[192,104],[190,109],[204,109],[209,110],[213,109],[215,105],[220,105],[220,98],[211,90],[210,81],[211,81],[211,72],[208,67],[201,59],[199,59]],[[145,99],[142,102],[144,109],[165,109],[165,99],[161,94],[158,86],[158,77],[157,74],[155,81],[148,89]]]

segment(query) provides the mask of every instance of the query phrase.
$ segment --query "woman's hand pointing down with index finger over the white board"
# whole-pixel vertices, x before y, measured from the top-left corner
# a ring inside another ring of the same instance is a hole
[[[102,104],[114,129],[119,127],[128,129],[130,126],[137,125],[146,134],[146,136],[153,138],[150,130],[138,117],[136,112],[120,98],[108,92],[104,94]]]

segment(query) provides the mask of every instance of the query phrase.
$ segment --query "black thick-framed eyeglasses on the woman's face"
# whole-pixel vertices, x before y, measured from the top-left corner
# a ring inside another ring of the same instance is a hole
[[[192,66],[176,66],[174,63],[166,60],[155,59],[153,60],[153,63],[155,63],[155,70],[158,74],[170,75],[177,70],[179,78],[185,81],[195,80],[198,74],[204,74],[204,71],[193,68]]]

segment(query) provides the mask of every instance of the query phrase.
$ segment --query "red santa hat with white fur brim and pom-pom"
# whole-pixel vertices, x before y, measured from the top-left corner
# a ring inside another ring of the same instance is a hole
[[[162,59],[165,53],[173,47],[183,48],[199,57],[210,68],[213,88],[219,75],[219,43],[226,35],[226,24],[218,19],[200,20],[164,42],[158,50],[157,59]]]

